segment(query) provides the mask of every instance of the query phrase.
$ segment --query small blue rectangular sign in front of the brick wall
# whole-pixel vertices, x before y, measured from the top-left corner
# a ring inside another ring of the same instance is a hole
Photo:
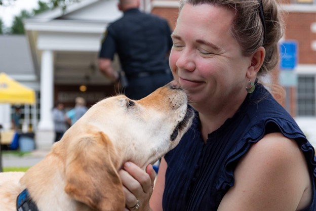
[[[283,41],[280,44],[280,68],[282,70],[293,70],[297,65],[297,43],[296,41]]]

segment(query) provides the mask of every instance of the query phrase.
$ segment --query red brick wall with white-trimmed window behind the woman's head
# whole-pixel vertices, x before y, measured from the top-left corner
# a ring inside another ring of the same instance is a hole
[[[264,1],[264,0],[263,0]],[[273,81],[280,83],[274,97],[288,110],[303,132],[316,146],[316,1],[281,0],[285,18],[282,41],[297,45],[296,65],[292,70],[273,70]],[[166,17],[172,27],[178,16],[178,1],[152,1],[152,13]]]

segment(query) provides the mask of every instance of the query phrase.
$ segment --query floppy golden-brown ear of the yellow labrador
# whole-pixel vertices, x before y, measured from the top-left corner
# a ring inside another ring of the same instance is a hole
[[[124,210],[123,186],[117,153],[102,132],[72,141],[66,155],[65,192],[102,211]]]

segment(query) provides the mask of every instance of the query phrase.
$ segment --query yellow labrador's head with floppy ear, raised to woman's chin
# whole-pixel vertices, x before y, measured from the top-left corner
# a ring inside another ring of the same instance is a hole
[[[179,143],[192,117],[176,82],[138,101],[119,95],[98,102],[61,140],[67,142],[66,193],[98,210],[124,210],[122,164],[155,162]]]

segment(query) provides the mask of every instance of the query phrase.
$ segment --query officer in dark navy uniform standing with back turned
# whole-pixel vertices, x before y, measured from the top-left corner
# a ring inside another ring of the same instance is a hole
[[[122,84],[123,91],[127,97],[138,100],[172,80],[168,64],[171,29],[165,19],[141,12],[139,0],[121,0],[117,6],[124,16],[105,32],[99,69],[112,82],[122,80],[112,67],[117,53],[124,71],[121,73],[128,81],[128,85]]]

